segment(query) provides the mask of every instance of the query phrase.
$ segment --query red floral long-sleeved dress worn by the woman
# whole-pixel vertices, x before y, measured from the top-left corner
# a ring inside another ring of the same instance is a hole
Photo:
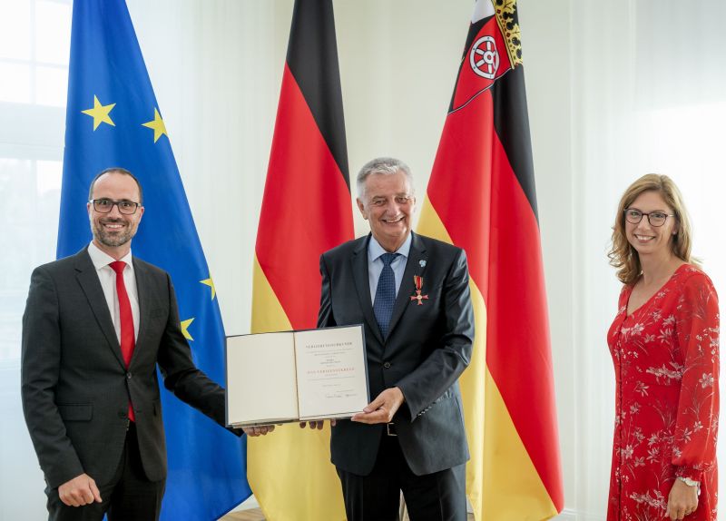
[[[627,315],[623,287],[607,339],[615,366],[608,521],[662,521],[677,476],[701,482],[688,521],[716,519],[719,303],[711,279],[684,264]]]

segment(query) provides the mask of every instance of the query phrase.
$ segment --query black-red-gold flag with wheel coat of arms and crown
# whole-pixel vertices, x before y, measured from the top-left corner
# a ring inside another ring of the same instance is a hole
[[[477,520],[547,519],[562,471],[514,0],[478,0],[418,230],[466,250],[475,352],[461,378]]]

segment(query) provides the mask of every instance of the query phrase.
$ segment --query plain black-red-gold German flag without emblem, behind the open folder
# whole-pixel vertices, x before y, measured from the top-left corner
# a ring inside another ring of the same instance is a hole
[[[320,254],[352,238],[333,6],[296,0],[255,246],[252,332],[315,328]],[[250,438],[248,479],[267,519],[345,519],[329,444],[328,424]]]

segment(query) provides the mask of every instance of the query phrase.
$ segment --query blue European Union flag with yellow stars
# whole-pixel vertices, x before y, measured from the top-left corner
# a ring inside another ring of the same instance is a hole
[[[146,211],[133,255],[172,275],[197,366],[224,381],[224,329],[182,179],[123,0],[75,0],[58,257],[91,241],[86,200],[96,173],[133,172]],[[162,392],[169,477],[162,519],[217,519],[250,496],[246,437]]]

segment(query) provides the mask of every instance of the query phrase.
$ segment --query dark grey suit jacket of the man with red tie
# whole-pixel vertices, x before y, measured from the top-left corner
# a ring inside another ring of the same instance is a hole
[[[36,268],[23,316],[23,409],[51,488],[83,472],[107,483],[121,460],[132,399],[146,476],[166,477],[166,443],[156,376],[224,425],[224,390],[191,361],[169,275],[133,258],[139,334],[123,363],[111,312],[88,252]]]

